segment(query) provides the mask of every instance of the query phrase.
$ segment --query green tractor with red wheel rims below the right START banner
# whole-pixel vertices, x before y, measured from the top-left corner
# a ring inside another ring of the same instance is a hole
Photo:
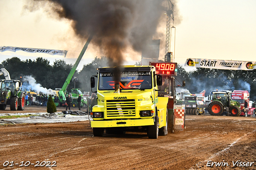
[[[231,91],[212,91],[212,101],[208,103],[210,115],[219,116],[226,112],[226,116],[240,116],[240,103],[231,100]]]

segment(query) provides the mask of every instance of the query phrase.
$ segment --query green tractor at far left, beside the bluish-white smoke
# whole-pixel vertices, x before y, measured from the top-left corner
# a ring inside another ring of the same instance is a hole
[[[0,80],[0,110],[10,105],[11,111],[23,111],[25,108],[25,92],[21,91],[19,80]]]

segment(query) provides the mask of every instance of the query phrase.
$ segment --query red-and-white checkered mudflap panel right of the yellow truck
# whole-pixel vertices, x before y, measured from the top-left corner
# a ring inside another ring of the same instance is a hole
[[[185,127],[185,105],[174,105],[173,130],[183,131]]]

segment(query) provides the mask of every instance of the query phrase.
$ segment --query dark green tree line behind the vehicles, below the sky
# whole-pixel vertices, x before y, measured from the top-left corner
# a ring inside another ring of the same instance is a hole
[[[138,65],[139,63],[134,63]],[[78,78],[76,88],[81,91],[91,91],[90,77],[96,75],[96,68],[108,66],[108,59],[104,56],[95,57],[94,60],[83,65],[81,71],[74,73],[74,77]],[[12,79],[20,79],[20,76],[30,75],[34,77],[36,83],[42,85],[47,89],[62,88],[68,74],[73,65],[67,64],[64,60],[55,60],[53,65],[50,61],[42,57],[36,60],[27,59],[21,61],[18,57],[6,59],[0,64],[0,68],[5,68]],[[215,89],[222,90],[248,90],[250,92],[250,99],[256,100],[256,70],[222,70],[222,69],[206,69],[196,68],[194,71],[186,71],[184,67],[178,64],[178,73],[176,78],[182,82],[186,81],[186,89],[190,93],[200,93],[206,90],[206,95]],[[0,79],[4,79],[1,75]],[[178,85],[177,81],[177,85]],[[68,86],[68,91],[74,88],[74,83],[71,81]]]

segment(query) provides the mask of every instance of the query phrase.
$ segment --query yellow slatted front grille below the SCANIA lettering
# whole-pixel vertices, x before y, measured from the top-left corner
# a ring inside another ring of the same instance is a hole
[[[107,117],[135,116],[135,100],[107,100]]]

